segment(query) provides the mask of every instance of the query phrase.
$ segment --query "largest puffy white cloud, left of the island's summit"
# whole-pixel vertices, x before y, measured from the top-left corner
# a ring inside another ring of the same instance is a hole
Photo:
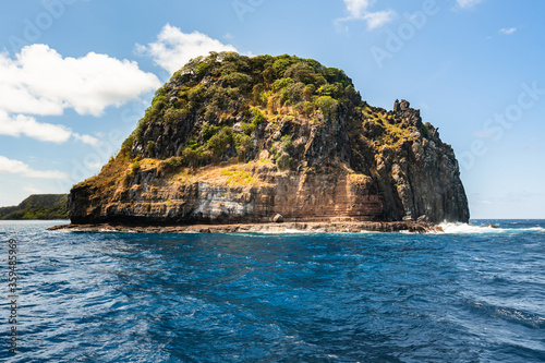
[[[0,110],[9,113],[100,116],[108,106],[138,99],[156,89],[156,75],[136,62],[89,52],[63,58],[47,45],[24,47],[11,58],[0,53]]]

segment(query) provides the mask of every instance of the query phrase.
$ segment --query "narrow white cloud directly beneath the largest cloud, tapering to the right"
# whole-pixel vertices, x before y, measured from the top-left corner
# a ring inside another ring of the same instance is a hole
[[[63,125],[37,122],[35,118],[17,114],[10,117],[0,110],[0,135],[20,137],[25,135],[43,142],[62,144],[71,136],[89,145],[98,144],[98,140],[89,135],[80,135]]]

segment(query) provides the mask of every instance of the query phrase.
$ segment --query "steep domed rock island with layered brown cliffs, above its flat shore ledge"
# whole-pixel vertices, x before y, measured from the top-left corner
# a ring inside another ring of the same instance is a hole
[[[156,93],[74,223],[468,221],[452,148],[420,111],[368,106],[342,71],[296,57],[210,53]]]

